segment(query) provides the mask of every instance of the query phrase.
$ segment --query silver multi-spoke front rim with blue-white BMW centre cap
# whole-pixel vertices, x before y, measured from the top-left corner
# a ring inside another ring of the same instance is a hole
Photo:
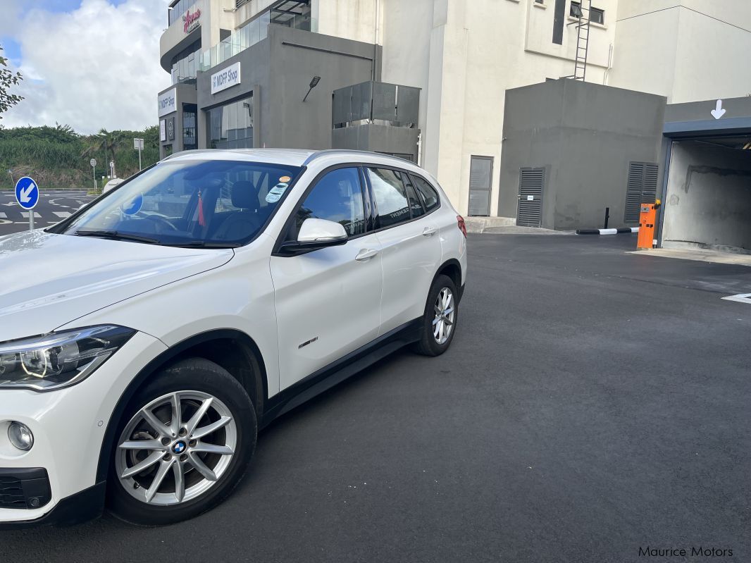
[[[120,435],[116,475],[146,504],[190,501],[214,486],[231,464],[237,424],[208,393],[167,393],[140,408]]]

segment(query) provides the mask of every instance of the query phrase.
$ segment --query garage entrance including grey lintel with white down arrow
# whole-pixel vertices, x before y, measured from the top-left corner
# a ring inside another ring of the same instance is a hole
[[[665,117],[660,246],[751,254],[751,100],[671,104]]]

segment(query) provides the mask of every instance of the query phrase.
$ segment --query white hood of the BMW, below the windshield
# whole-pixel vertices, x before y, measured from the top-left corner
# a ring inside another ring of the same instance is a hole
[[[118,301],[222,266],[233,256],[231,249],[173,248],[42,230],[0,236],[0,342],[49,333]]]

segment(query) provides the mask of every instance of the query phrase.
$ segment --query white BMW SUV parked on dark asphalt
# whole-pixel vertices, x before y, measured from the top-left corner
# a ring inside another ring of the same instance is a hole
[[[0,237],[0,528],[209,510],[275,417],[446,351],[465,278],[436,180],[368,152],[182,152]]]

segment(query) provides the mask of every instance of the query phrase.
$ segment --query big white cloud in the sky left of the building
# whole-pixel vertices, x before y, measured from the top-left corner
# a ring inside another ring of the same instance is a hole
[[[155,125],[157,92],[170,84],[159,65],[167,3],[83,0],[68,13],[32,8],[20,16],[12,37],[21,45],[18,93],[26,99],[0,123],[58,122],[80,133]]]

